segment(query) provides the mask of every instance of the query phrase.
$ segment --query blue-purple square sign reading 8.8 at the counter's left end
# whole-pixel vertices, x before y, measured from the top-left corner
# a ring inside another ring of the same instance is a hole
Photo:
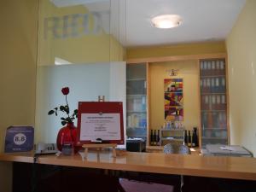
[[[34,128],[32,126],[9,126],[6,130],[4,152],[26,152],[33,149]]]

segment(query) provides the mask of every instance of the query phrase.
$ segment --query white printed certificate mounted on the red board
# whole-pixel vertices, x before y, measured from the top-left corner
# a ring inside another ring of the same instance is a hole
[[[80,141],[120,140],[119,113],[81,113]]]

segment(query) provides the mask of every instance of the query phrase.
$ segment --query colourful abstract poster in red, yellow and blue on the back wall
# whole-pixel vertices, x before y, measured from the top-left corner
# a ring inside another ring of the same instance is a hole
[[[165,119],[183,120],[183,79],[164,79]]]

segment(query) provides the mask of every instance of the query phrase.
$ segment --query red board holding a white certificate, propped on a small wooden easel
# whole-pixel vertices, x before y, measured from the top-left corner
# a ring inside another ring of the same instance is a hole
[[[79,102],[78,140],[124,144],[123,103]]]

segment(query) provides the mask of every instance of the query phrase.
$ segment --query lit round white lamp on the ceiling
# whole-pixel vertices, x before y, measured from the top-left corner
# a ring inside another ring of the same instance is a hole
[[[179,15],[159,15],[154,17],[151,21],[157,28],[169,29],[180,26],[182,23],[182,18]]]

